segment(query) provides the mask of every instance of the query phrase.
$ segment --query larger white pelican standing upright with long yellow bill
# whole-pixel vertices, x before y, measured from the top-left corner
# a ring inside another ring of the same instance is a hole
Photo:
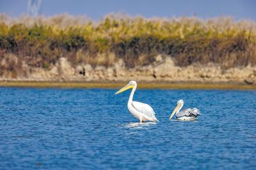
[[[120,92],[124,92],[125,90],[128,90],[128,89],[132,89],[128,103],[127,103],[128,110],[132,114],[132,116],[138,118],[138,120],[140,120],[140,123],[145,121],[159,122],[155,116],[156,113],[148,104],[140,103],[138,101],[132,101],[136,88],[137,88],[136,81],[130,81],[127,85],[125,85],[125,87],[118,90],[116,94]]]

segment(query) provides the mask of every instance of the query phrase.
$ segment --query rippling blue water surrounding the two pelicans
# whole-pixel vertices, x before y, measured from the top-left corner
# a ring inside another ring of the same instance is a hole
[[[0,88],[0,169],[256,168],[255,91],[139,89],[145,124],[115,92]],[[196,122],[168,121],[178,99]]]

